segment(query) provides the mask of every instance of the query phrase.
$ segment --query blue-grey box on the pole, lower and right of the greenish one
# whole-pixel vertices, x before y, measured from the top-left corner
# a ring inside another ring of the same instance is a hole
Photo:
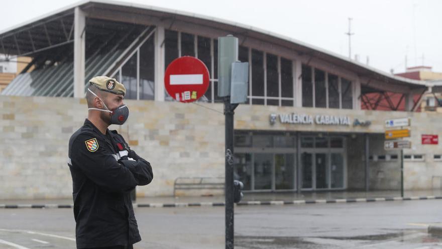
[[[249,87],[249,62],[232,63],[232,81],[230,103],[242,104],[247,102]]]

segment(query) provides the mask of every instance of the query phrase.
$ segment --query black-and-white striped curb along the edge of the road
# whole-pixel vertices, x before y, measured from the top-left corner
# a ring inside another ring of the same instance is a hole
[[[350,198],[350,199],[318,199],[318,200],[293,200],[293,201],[247,201],[235,204],[235,206],[257,205],[293,205],[293,204],[319,204],[319,203],[354,203],[354,202],[378,202],[378,201],[411,201],[442,199],[442,196],[412,196],[412,197],[387,197],[387,198]],[[0,208],[73,208],[73,204],[0,204]],[[133,203],[134,208],[141,207],[224,207],[224,202],[195,202],[195,203]],[[434,227],[436,229],[436,227]],[[439,228],[442,234],[442,226]],[[429,228],[428,228],[429,231]]]

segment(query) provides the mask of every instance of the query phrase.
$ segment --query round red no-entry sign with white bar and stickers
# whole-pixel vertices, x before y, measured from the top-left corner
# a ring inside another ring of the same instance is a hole
[[[192,56],[173,60],[164,73],[167,93],[177,101],[189,103],[201,98],[209,87],[209,71]]]

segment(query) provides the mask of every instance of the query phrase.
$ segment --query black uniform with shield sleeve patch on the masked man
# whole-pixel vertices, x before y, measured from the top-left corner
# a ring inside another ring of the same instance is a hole
[[[69,139],[77,248],[141,240],[130,192],[152,181],[152,167],[117,131],[103,135],[89,120]]]

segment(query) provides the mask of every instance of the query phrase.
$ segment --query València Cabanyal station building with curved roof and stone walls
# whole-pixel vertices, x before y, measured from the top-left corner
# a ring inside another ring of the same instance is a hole
[[[239,38],[239,60],[250,64],[248,102],[235,111],[235,177],[246,191],[399,190],[400,152],[384,149],[384,123],[394,118],[410,119],[405,189],[442,187],[441,145],[421,141],[441,135],[442,116],[419,111],[427,82],[230,21],[85,1],[0,33],[0,53],[32,58],[0,95],[9,141],[0,145],[0,198],[70,196],[68,139],[87,117],[85,86],[95,75],[127,89],[130,118],[110,128],[153,165],[154,181],[138,196],[172,195],[179,178],[223,178],[217,38],[229,34]],[[210,74],[193,104],[164,89],[165,68],[185,55]],[[388,106],[377,110],[380,95]]]

